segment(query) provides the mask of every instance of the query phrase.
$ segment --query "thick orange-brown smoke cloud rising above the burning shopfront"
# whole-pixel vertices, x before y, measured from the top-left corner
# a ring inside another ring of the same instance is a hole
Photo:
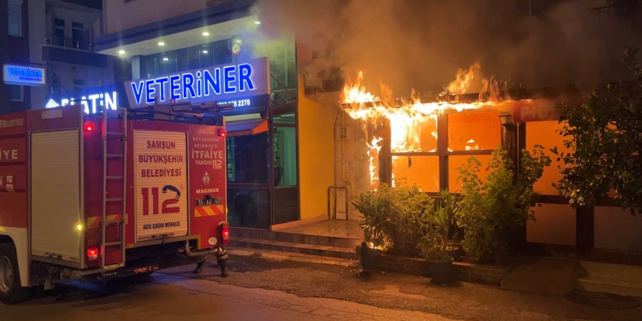
[[[363,70],[370,89],[384,82],[397,95],[430,96],[474,62],[484,76],[527,89],[615,80],[639,26],[587,2],[259,0],[256,9],[265,37],[296,36],[308,85],[333,68],[349,78]]]

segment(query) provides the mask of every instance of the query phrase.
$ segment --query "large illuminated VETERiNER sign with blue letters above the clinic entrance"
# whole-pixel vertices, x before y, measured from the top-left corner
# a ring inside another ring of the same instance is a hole
[[[125,83],[132,108],[187,100],[192,103],[237,101],[270,94],[268,58],[215,65]]]

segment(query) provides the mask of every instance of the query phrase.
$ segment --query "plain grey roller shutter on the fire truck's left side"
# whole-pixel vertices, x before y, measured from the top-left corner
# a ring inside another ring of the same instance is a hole
[[[31,133],[31,254],[80,263],[78,130]]]

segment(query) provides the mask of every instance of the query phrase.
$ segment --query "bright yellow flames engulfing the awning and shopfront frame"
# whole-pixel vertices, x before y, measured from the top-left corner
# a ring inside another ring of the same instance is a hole
[[[361,85],[363,72],[359,72],[354,83],[345,83],[341,94],[343,108],[353,119],[364,121],[383,117],[390,123],[390,151],[395,152],[436,152],[436,149],[422,150],[422,129],[429,130],[431,137],[437,141],[437,117],[445,110],[462,112],[463,110],[493,108],[503,104],[499,99],[499,83],[490,78],[482,79],[482,87],[477,101],[458,101],[458,96],[467,94],[476,80],[479,64],[473,64],[467,70],[460,69],[453,82],[449,83],[439,94],[439,100],[422,103],[419,95],[412,92],[410,101],[394,100],[390,90],[382,85],[381,98],[366,91]],[[401,101],[401,103],[399,103]],[[429,124],[430,126],[426,126]],[[424,137],[428,133],[424,133]],[[383,137],[372,137],[367,144],[370,162],[370,187],[377,188],[379,175],[377,164]],[[436,144],[435,144],[436,146]],[[436,147],[435,147],[436,148]],[[467,141],[465,150],[478,150],[473,139]],[[449,150],[451,151],[451,150]],[[394,157],[396,158],[396,157]],[[394,185],[394,175],[392,184]]]

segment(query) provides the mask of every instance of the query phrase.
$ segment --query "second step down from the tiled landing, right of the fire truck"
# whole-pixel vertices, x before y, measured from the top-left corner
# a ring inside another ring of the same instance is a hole
[[[259,248],[263,250],[300,253],[313,256],[340,257],[343,259],[354,259],[356,257],[354,249],[352,248],[324,247],[322,245],[270,241],[268,239],[230,237],[230,246],[237,248]]]

